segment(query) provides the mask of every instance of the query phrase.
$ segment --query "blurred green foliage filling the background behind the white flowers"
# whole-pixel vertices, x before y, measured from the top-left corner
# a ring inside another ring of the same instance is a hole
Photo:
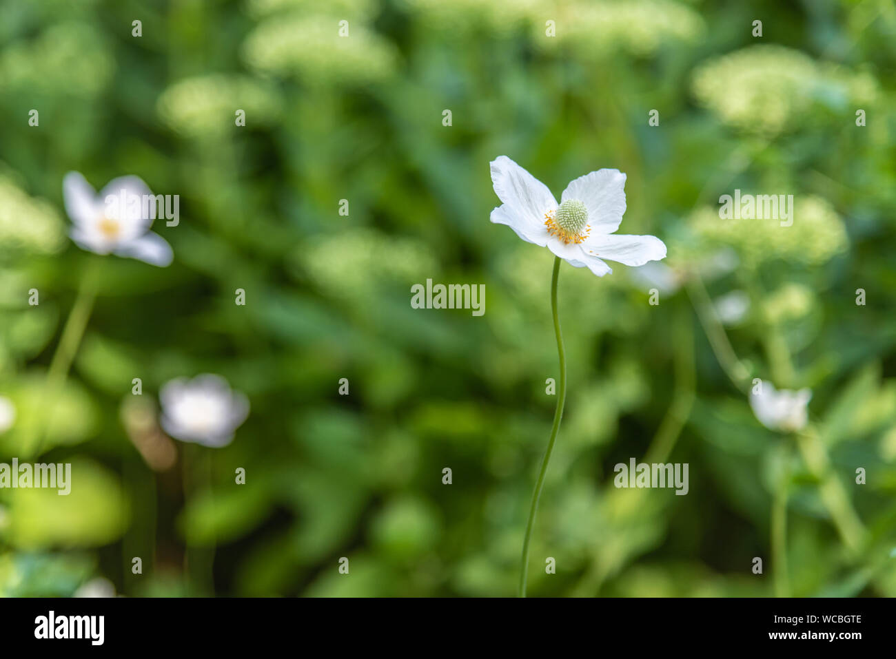
[[[896,595],[894,44],[888,0],[0,0],[0,461],[74,479],[0,490],[0,594],[104,576],[125,595],[512,595],[557,364],[552,256],[488,221],[506,154],[557,196],[624,171],[621,232],[658,235],[671,269],[655,306],[623,266],[561,271],[570,393],[530,594],[772,595],[783,492],[789,593]],[[100,259],[66,237],[70,170],[139,175],[181,222],[153,227],[168,269],[101,259],[30,455]],[[794,225],[720,220],[735,188],[793,194]],[[411,309],[426,278],[485,283],[486,314]],[[795,438],[727,377],[709,301],[735,290],[724,340],[748,378],[813,389],[857,551]],[[228,447],[153,466],[170,441],[153,404],[123,407],[132,379],[154,400],[199,372],[251,415]],[[688,463],[689,494],[616,490],[613,466],[645,456]]]

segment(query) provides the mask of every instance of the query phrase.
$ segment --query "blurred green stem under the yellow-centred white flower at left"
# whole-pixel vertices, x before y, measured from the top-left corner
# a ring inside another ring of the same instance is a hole
[[[84,329],[87,329],[87,322],[90,321],[90,312],[93,311],[93,301],[96,299],[99,288],[100,268],[98,258],[90,259],[78,285],[78,292],[72,305],[72,311],[69,312],[68,320],[65,321],[62,337],[59,338],[56,352],[53,354],[49,370],[47,370],[47,381],[44,385],[44,401],[47,405],[46,414],[41,415],[34,440],[32,445],[29,446],[29,453],[33,451],[34,455],[39,455],[40,449],[43,448],[44,442],[47,441],[49,423],[55,415],[54,405],[59,398],[60,390],[65,385],[68,372],[72,368],[74,355],[77,354],[78,347],[81,346],[81,339],[84,336]]]

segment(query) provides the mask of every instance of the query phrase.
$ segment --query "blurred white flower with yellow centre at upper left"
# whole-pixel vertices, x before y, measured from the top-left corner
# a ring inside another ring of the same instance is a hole
[[[171,245],[150,231],[150,204],[143,200],[149,200],[151,192],[140,178],[115,178],[98,195],[81,174],[69,172],[62,187],[73,223],[69,235],[82,250],[114,253],[163,268],[171,262]],[[134,195],[141,203],[131,202]],[[125,203],[120,203],[123,199]]]

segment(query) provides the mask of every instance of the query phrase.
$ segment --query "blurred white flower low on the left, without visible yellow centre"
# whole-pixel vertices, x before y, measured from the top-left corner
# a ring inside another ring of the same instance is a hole
[[[227,446],[249,415],[246,396],[210,373],[168,382],[159,391],[159,400],[162,428],[178,440],[203,446]]]

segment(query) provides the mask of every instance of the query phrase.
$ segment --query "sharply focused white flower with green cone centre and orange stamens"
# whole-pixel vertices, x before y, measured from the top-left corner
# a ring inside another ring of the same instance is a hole
[[[491,220],[511,227],[528,243],[546,247],[574,268],[603,277],[613,270],[601,259],[640,266],[666,257],[653,235],[617,235],[625,213],[625,174],[599,169],[566,186],[560,203],[547,185],[506,156],[491,163],[495,194],[504,203]]]

